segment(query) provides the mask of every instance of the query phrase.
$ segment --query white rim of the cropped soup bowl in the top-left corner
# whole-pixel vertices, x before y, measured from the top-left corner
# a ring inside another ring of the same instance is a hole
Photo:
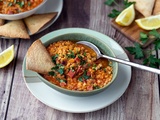
[[[16,16],[21,16],[23,14],[27,14],[27,13],[32,13],[35,10],[38,10],[41,6],[43,6],[45,3],[47,2],[47,0],[43,0],[43,2],[41,2],[37,7],[29,10],[29,11],[25,11],[25,12],[20,12],[20,13],[16,13],[16,14],[1,14],[0,13],[0,18],[1,17],[16,17]],[[22,19],[22,18],[21,18]]]

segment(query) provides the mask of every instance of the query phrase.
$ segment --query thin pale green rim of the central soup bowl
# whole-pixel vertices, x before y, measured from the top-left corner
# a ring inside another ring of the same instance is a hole
[[[109,47],[109,45],[107,45],[106,43],[103,43],[102,41],[101,41],[101,39],[100,38],[97,38],[97,37],[95,37],[95,36],[93,36],[93,35],[89,35],[89,34],[84,34],[84,33],[79,33],[79,32],[74,32],[74,33],[65,33],[65,34],[61,34],[61,35],[58,35],[58,36],[55,36],[55,37],[53,37],[53,38],[51,38],[51,39],[48,39],[48,40],[46,40],[46,41],[44,41],[44,42],[42,42],[43,43],[43,45],[45,46],[45,47],[47,47],[47,42],[48,41],[51,41],[51,40],[53,40],[53,39],[56,39],[56,38],[58,38],[58,37],[60,37],[60,36],[65,36],[65,35],[69,35],[69,34],[81,34],[81,35],[85,35],[85,36],[88,36],[88,37],[91,37],[91,38],[94,38],[94,39],[96,39],[98,42],[100,42],[101,44],[103,44],[103,45],[105,45],[105,47],[108,49],[108,50],[110,50],[110,52],[112,53],[112,55],[114,56],[114,57],[116,57],[116,55],[115,55],[115,53],[113,52],[113,50]],[[41,38],[40,38],[40,40],[41,40]],[[77,40],[77,41],[80,41],[80,40]],[[52,43],[54,43],[54,42],[57,42],[57,41],[53,41]],[[51,43],[50,43],[51,44]],[[94,43],[93,43],[94,44]],[[94,44],[95,45],[95,44]],[[97,46],[97,45],[96,45]],[[99,46],[97,46],[98,48],[99,48]],[[113,61],[114,62],[114,61]],[[45,81],[45,82],[47,82],[47,84],[49,84],[48,86],[54,86],[55,88],[56,88],[56,90],[57,89],[60,89],[60,90],[62,90],[62,91],[66,91],[66,92],[68,92],[68,93],[73,93],[73,94],[88,94],[88,93],[92,93],[92,92],[98,92],[98,91],[101,91],[101,90],[104,90],[104,89],[106,89],[107,87],[109,87],[114,81],[115,81],[115,79],[116,79],[116,77],[117,77],[117,74],[118,74],[118,68],[119,68],[119,66],[118,66],[118,63],[117,62],[114,62],[115,63],[115,66],[116,66],[116,70],[115,70],[115,75],[114,75],[114,78],[112,78],[112,81],[110,81],[107,85],[105,85],[104,87],[102,87],[102,88],[99,88],[99,89],[94,89],[94,90],[91,90],[91,91],[76,91],[76,90],[68,90],[68,89],[65,89],[65,88],[62,88],[62,87],[60,87],[60,86],[57,86],[57,85],[55,85],[55,84],[53,84],[53,83],[51,83],[51,82],[49,82],[49,81],[47,81],[44,77],[42,77],[42,75],[41,74],[39,74],[39,73],[37,73],[36,72],[36,74],[37,74],[37,76],[40,78],[40,80],[41,81]],[[45,83],[44,82],[44,83]],[[50,87],[51,87],[50,86]],[[51,87],[52,88],[52,87]],[[52,88],[52,89],[54,89],[54,88]],[[59,90],[58,90],[59,91]]]

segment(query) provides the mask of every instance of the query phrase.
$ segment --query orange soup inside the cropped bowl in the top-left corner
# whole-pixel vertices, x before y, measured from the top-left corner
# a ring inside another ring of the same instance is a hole
[[[1,14],[17,14],[29,11],[43,0],[0,0],[0,13]]]

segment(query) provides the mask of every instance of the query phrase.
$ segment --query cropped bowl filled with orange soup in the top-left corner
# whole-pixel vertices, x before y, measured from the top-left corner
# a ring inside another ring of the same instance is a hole
[[[0,0],[0,18],[18,20],[34,14],[47,0]]]

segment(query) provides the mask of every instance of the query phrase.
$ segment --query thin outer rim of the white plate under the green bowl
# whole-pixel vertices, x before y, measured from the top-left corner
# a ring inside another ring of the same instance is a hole
[[[94,33],[97,33],[97,34],[99,34],[99,35],[103,35],[103,36],[105,36],[106,38],[111,39],[112,42],[114,42],[114,44],[117,44],[117,45],[119,46],[119,48],[121,48],[121,51],[124,52],[124,54],[127,56],[127,54],[126,54],[126,52],[123,50],[123,48],[122,48],[116,41],[114,41],[112,38],[110,38],[110,37],[108,37],[108,36],[106,36],[105,34],[102,34],[102,33],[100,33],[100,32],[97,32],[97,31],[94,31],[94,30],[90,30],[90,29],[85,29],[85,28],[64,28],[64,29],[60,29],[60,30],[55,30],[55,31],[52,31],[52,32],[44,35],[44,36],[41,37],[40,39],[41,39],[41,41],[43,42],[43,41],[45,41],[45,39],[46,39],[48,36],[51,37],[52,34],[55,34],[56,32],[61,32],[61,33],[63,33],[63,31],[74,31],[74,32],[77,32],[77,31],[79,31],[79,30],[80,30],[80,31],[85,31],[85,32],[86,32],[86,31],[90,31],[91,33],[94,32]],[[63,33],[63,34],[64,34],[64,33]],[[126,60],[129,60],[128,56],[127,56]],[[33,93],[33,91],[29,88],[29,86],[27,85],[27,82],[26,82],[26,80],[25,80],[25,77],[24,77],[24,74],[25,74],[25,73],[24,73],[24,72],[25,72],[25,70],[24,70],[24,64],[25,64],[25,63],[24,63],[24,62],[25,62],[25,58],[24,58],[24,60],[23,60],[23,65],[22,65],[23,78],[24,78],[24,82],[25,82],[27,88],[28,88],[29,91],[32,93],[32,95],[33,95],[36,99],[38,99],[39,101],[41,101],[43,104],[45,104],[45,105],[47,105],[47,106],[50,106],[50,107],[53,108],[53,109],[57,109],[57,110],[64,111],[64,112],[69,112],[69,113],[86,113],[86,112],[93,112],[93,111],[100,110],[100,109],[103,109],[103,108],[111,105],[112,103],[114,103],[115,101],[117,101],[117,100],[124,94],[124,92],[126,91],[126,89],[127,89],[128,86],[129,86],[129,83],[130,83],[130,81],[131,81],[131,75],[132,75],[131,67],[128,66],[128,69],[130,70],[130,71],[129,71],[129,72],[130,72],[130,75],[129,75],[129,78],[128,78],[128,79],[129,79],[129,80],[128,80],[128,84],[126,85],[125,90],[121,93],[121,95],[117,96],[117,98],[114,99],[111,103],[109,103],[109,104],[107,104],[107,105],[105,105],[105,106],[103,106],[103,107],[99,107],[99,108],[92,109],[92,110],[87,110],[87,111],[85,111],[85,110],[79,110],[79,111],[64,110],[63,108],[60,109],[60,108],[57,108],[57,107],[53,107],[53,106],[51,106],[50,104],[48,104],[48,103],[46,103],[45,101],[43,101],[42,99],[37,98],[37,96],[36,96],[36,95]],[[44,84],[44,83],[43,83],[43,84]],[[59,94],[62,94],[62,93],[59,93]]]

